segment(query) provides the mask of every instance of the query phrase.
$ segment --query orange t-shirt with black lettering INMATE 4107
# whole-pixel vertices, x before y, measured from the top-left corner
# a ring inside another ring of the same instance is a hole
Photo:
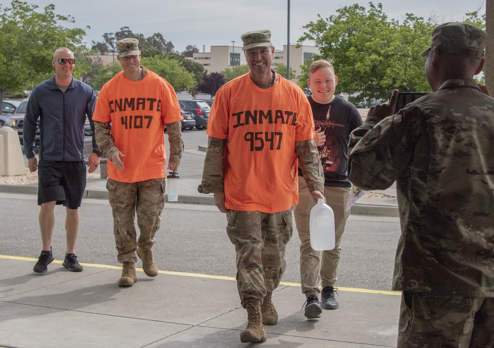
[[[122,71],[106,82],[93,120],[112,122],[113,141],[125,155],[123,170],[108,162],[108,176],[124,183],[165,178],[165,123],[182,118],[173,87],[150,70],[140,81]]]

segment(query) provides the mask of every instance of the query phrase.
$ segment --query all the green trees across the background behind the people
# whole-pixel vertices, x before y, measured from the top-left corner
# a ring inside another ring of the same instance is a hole
[[[481,14],[479,5],[476,11],[465,14],[464,21],[485,28],[486,15]],[[412,13],[399,22],[388,19],[380,3],[369,2],[369,8],[354,4],[338,8],[328,18],[318,15],[317,21],[304,26],[305,32],[297,42],[312,40],[320,50],[314,59],[333,60],[338,93],[360,92],[354,102],[370,103],[374,99],[387,99],[394,88],[429,91],[420,52],[428,46],[438,22],[433,16],[424,20]],[[9,7],[0,5],[0,47],[4,48],[0,50],[0,101],[7,92],[24,93],[53,76],[51,59],[60,46],[74,51],[77,58],[74,76],[99,90],[122,67],[118,62],[103,66],[101,59],[89,55],[116,53],[116,41],[124,38],[139,40],[141,64],[168,80],[177,92],[195,89],[213,97],[224,83],[248,72],[247,65],[238,65],[206,74],[201,64],[189,59],[199,52],[195,45],[177,52],[162,34],[146,38],[129,27],[105,33],[101,41],[92,41],[88,49],[82,42],[85,29],[70,29],[64,23],[73,24],[75,19],[57,14],[52,4],[43,11],[38,5],[20,0],[12,0]],[[309,64],[301,67],[302,74],[298,77],[290,68],[290,79],[297,78],[302,88],[307,86]],[[274,70],[286,76],[285,65],[275,64]]]

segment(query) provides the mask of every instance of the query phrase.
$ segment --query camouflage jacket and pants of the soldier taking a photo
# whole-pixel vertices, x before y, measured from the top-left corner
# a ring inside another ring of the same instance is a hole
[[[368,116],[353,133],[349,178],[364,190],[396,181],[398,347],[493,347],[494,99],[471,78],[450,79],[376,123]]]

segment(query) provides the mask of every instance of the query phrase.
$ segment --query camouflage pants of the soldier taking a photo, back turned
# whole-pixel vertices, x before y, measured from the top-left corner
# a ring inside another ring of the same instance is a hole
[[[494,348],[494,298],[404,291],[398,348]]]

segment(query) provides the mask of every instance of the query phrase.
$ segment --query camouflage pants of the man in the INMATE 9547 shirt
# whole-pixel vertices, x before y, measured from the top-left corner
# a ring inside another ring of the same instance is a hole
[[[230,210],[226,218],[226,232],[237,252],[237,287],[245,308],[247,299],[261,300],[280,285],[293,233],[292,209],[273,214]]]

